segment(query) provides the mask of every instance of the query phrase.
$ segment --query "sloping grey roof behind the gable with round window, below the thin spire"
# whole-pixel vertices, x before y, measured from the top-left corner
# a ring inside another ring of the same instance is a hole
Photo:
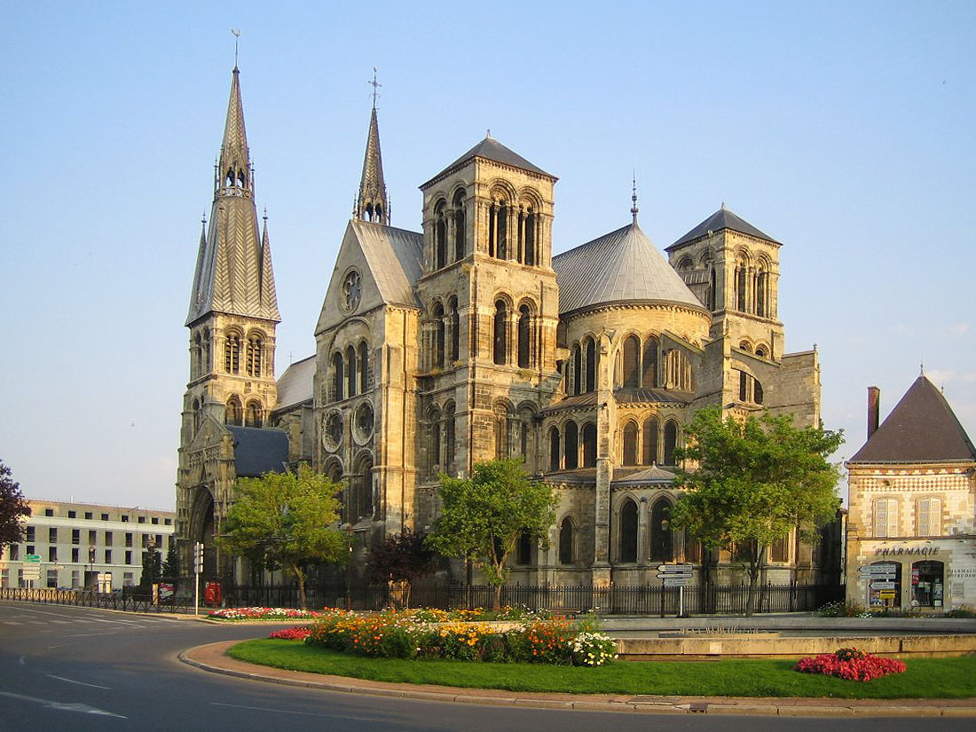
[[[358,220],[349,225],[359,239],[384,303],[419,305],[414,284],[424,271],[424,234]]]

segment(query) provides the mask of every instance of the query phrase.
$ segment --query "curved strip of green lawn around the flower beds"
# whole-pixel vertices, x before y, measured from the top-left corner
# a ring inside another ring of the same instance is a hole
[[[663,696],[965,699],[976,697],[976,657],[906,661],[908,671],[872,681],[845,681],[793,671],[793,661],[626,662],[596,669],[537,664],[405,661],[350,656],[295,640],[248,640],[232,658],[293,671],[374,681],[509,691]]]

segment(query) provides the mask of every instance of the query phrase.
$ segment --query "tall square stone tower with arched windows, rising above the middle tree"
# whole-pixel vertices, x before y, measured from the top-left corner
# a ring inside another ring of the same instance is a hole
[[[421,186],[421,481],[493,458],[539,469],[535,427],[558,382],[555,181],[489,135]]]

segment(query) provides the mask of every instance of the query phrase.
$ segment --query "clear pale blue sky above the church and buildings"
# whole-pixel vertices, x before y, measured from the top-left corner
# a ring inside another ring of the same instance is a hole
[[[0,459],[28,497],[172,508],[183,318],[233,37],[278,298],[312,331],[373,66],[393,224],[486,128],[559,177],[556,252],[630,219],[662,249],[728,206],[784,242],[838,459],[919,361],[976,437],[976,3],[3,2]],[[326,7],[326,6],[332,7]]]

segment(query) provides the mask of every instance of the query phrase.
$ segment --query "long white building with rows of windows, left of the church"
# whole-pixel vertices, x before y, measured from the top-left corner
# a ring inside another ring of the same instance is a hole
[[[0,588],[94,587],[102,590],[138,585],[142,551],[150,545],[165,558],[174,541],[173,511],[96,504],[27,500],[22,542],[0,553]],[[24,579],[39,566],[40,579]]]

